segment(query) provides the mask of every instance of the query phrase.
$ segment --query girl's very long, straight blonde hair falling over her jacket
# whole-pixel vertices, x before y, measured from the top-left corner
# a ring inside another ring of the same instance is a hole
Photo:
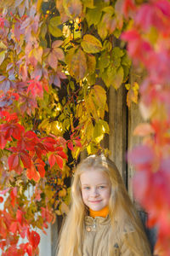
[[[103,154],[91,155],[82,160],[77,166],[71,185],[71,207],[70,212],[65,218],[60,237],[58,256],[82,256],[83,236],[84,236],[84,218],[87,215],[87,208],[82,201],[80,176],[82,172],[93,168],[97,172],[105,172],[111,181],[111,197],[109,201],[109,215],[111,224],[118,227],[122,232],[127,224],[133,226],[137,231],[135,241],[127,241],[132,247],[135,255],[139,253],[138,240],[143,240],[145,250],[150,255],[150,247],[144,234],[143,226],[139,220],[138,214],[133,207],[133,203],[127,195],[127,189],[122,181],[116,165]],[[139,239],[138,239],[139,238]],[[147,248],[148,247],[148,248]]]

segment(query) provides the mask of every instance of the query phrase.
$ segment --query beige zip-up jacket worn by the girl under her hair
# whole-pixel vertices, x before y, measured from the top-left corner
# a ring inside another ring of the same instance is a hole
[[[137,232],[128,225],[124,227],[122,234],[116,232],[111,238],[111,219],[108,217],[85,218],[85,235],[83,243],[83,256],[150,256],[144,246],[144,241],[138,239]],[[109,253],[109,245],[113,244],[112,252]],[[128,242],[135,241],[137,249],[132,252]]]

